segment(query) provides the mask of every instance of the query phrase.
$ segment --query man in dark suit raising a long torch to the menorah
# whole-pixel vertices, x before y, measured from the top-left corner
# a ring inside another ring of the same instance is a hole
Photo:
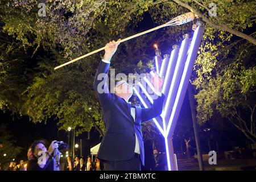
[[[162,78],[155,74],[152,85],[159,96],[151,108],[132,106],[128,100],[133,94],[131,85],[122,80],[109,92],[106,80],[112,56],[118,44],[113,40],[106,44],[105,55],[94,79],[94,89],[102,107],[106,133],[101,141],[97,158],[101,159],[106,171],[139,171],[144,166],[144,146],[141,123],[162,113],[164,96]]]

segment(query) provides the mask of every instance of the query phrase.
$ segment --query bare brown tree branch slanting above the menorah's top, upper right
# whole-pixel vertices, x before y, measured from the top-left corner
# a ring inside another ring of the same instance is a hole
[[[191,11],[193,11],[193,13],[195,13],[196,15],[198,15],[199,17],[201,17],[204,22],[208,23],[210,26],[214,27],[214,28],[217,28],[217,29],[220,29],[220,30],[223,30],[223,31],[226,31],[226,32],[229,32],[230,34],[234,34],[234,35],[237,35],[243,39],[246,39],[248,40],[249,42],[253,43],[254,45],[256,45],[256,39],[254,39],[253,37],[249,36],[249,35],[246,35],[246,34],[243,34],[242,32],[240,31],[237,31],[237,30],[233,30],[232,28],[226,26],[225,24],[216,24],[214,22],[212,22],[211,20],[209,20],[207,17],[205,17],[203,14],[199,13],[199,11],[195,10],[192,6],[189,6],[179,0],[173,0],[175,3],[177,3],[178,5],[180,6],[183,6]]]

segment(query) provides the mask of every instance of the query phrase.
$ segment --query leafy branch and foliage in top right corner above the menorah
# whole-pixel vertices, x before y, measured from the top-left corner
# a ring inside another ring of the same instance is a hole
[[[202,18],[209,26],[237,35],[256,45],[256,39],[253,38],[253,36],[246,35],[240,31],[253,26],[253,22],[255,22],[255,1],[173,1],[178,5],[191,10]],[[213,13],[214,11],[209,9],[208,5],[213,2],[216,7],[216,15],[212,16],[212,18],[208,18],[207,14],[209,14],[209,12]],[[203,13],[201,13],[201,11],[203,11]]]

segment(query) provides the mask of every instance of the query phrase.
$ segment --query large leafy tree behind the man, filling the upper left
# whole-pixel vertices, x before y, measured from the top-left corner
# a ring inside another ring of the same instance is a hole
[[[101,55],[88,57],[67,69],[53,71],[52,68],[71,55],[104,46],[117,32],[119,36],[127,36],[127,24],[138,22],[143,12],[129,11],[132,3],[128,2],[121,6],[123,3],[116,1],[82,5],[81,1],[72,4],[71,1],[49,1],[46,18],[40,18],[35,9],[36,1],[1,3],[1,109],[28,115],[33,122],[56,119],[59,129],[78,127],[77,134],[94,126],[103,135],[101,108],[91,86]],[[144,4],[147,6],[146,2]],[[130,17],[127,21],[119,17],[120,10],[129,14],[122,14],[122,17]],[[133,20],[134,17],[137,18]],[[113,61],[116,71],[138,72],[134,63],[148,61],[150,56],[145,53],[148,46],[142,40],[122,45],[118,52],[124,59]]]

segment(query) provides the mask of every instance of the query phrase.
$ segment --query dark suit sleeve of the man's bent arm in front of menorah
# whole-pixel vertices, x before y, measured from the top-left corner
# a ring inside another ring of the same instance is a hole
[[[152,118],[158,117],[163,111],[164,94],[154,100],[152,107],[142,108],[141,122],[146,122]]]

